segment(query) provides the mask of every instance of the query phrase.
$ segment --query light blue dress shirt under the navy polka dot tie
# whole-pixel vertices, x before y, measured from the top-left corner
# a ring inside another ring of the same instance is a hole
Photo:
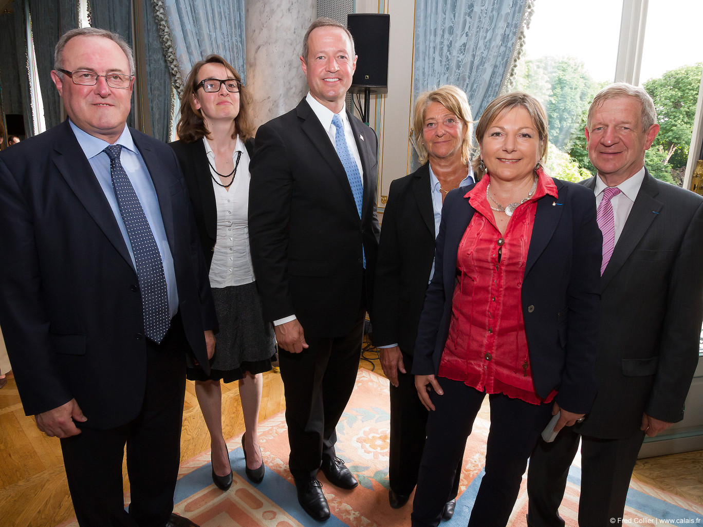
[[[105,150],[110,143],[95,136],[91,136],[90,134],[86,134],[86,132],[79,129],[78,126],[73,124],[70,120],[69,124],[71,125],[71,129],[73,130],[76,139],[78,140],[78,144],[81,145],[83,153],[88,158],[90,166],[93,167],[93,172],[95,173],[96,178],[98,178],[98,183],[100,183],[101,188],[103,188],[105,197],[108,198],[110,208],[112,209],[112,214],[115,215],[117,226],[120,227],[122,238],[124,238],[124,243],[127,245],[127,250],[129,250],[132,266],[136,269],[134,252],[132,251],[131,243],[129,242],[129,235],[127,235],[127,227],[124,226],[124,221],[122,221],[120,206],[117,204],[115,190],[112,188],[112,178],[110,177],[110,157],[103,152],[103,150]],[[153,181],[151,181],[146,164],[144,163],[139,150],[136,148],[136,145],[134,145],[134,141],[129,133],[129,128],[127,128],[126,125],[124,126],[122,135],[119,139],[117,139],[115,144],[122,145],[120,162],[122,163],[122,167],[124,167],[124,171],[127,172],[129,181],[131,181],[131,184],[134,187],[134,192],[139,198],[141,207],[144,209],[144,214],[146,215],[146,220],[149,222],[149,226],[151,227],[151,232],[156,240],[156,245],[159,247],[161,261],[164,265],[164,274],[166,275],[166,287],[169,295],[169,311],[173,318],[178,311],[176,272],[174,271],[174,259],[171,254],[171,248],[169,247],[169,242],[166,238],[164,221],[161,217],[161,210],[159,209],[159,199],[156,195],[156,189],[154,188]]]

